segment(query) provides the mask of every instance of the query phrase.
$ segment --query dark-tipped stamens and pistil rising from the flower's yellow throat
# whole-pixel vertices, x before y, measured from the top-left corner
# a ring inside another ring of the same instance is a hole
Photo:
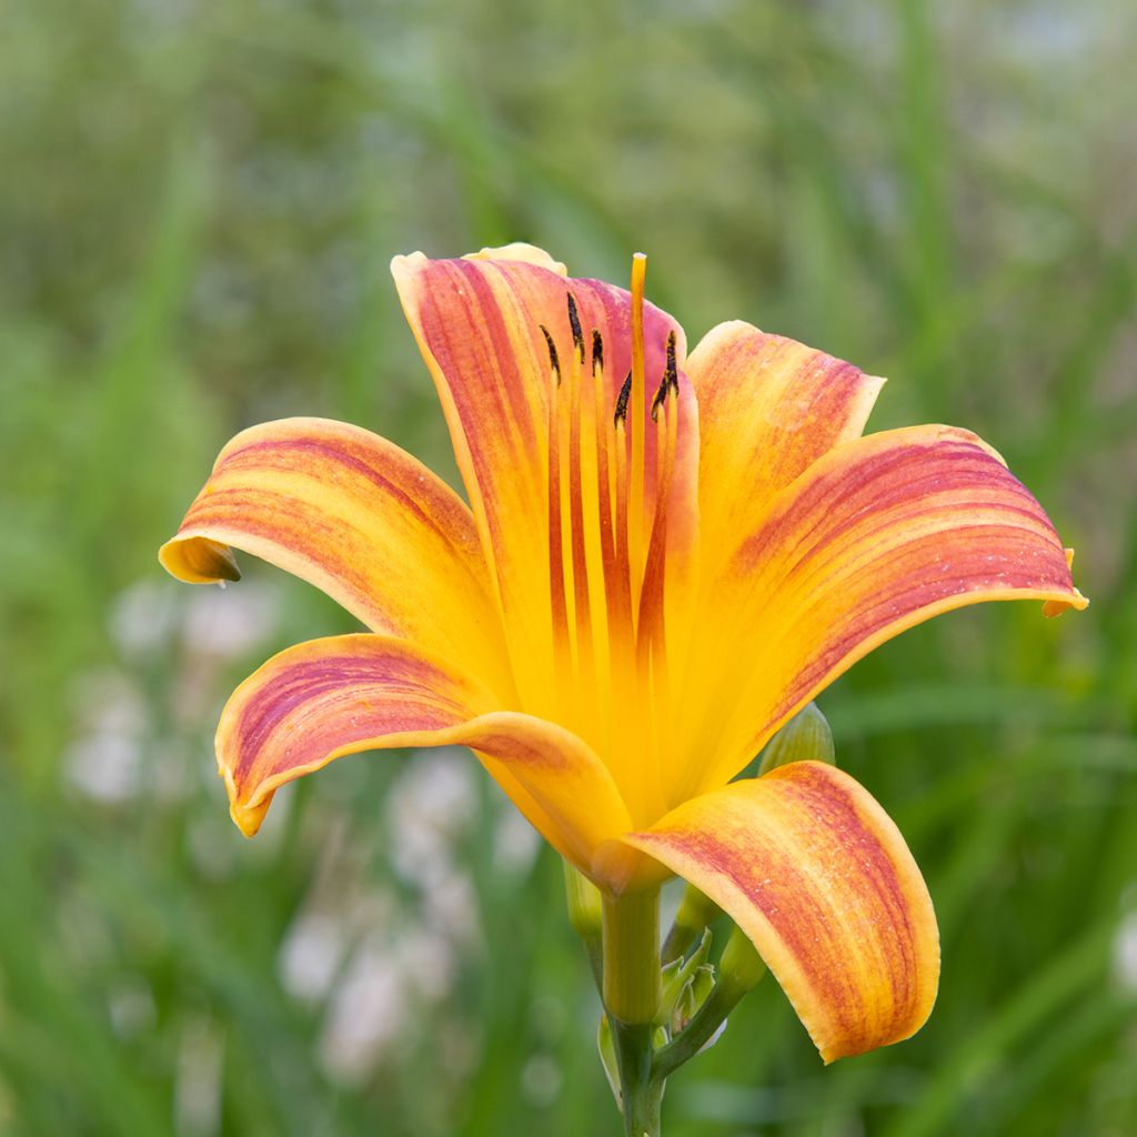
[[[561,712],[601,753],[620,753],[614,705],[669,703],[664,626],[667,509],[679,431],[675,333],[652,387],[644,351],[647,258],[631,276],[631,370],[614,400],[604,340],[586,339],[567,296],[572,356],[565,366],[545,325],[551,398],[548,422],[549,586]],[[654,438],[650,432],[654,431]],[[648,451],[654,448],[645,484]],[[648,492],[650,490],[650,492]],[[638,749],[642,749],[642,739]],[[653,745],[653,749],[657,746]]]

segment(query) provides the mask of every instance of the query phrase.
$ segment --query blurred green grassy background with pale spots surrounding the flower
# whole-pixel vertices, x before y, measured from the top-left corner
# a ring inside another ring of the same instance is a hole
[[[538,11],[537,8],[540,10]],[[823,1069],[767,982],[670,1137],[1137,1132],[1137,8],[1117,0],[35,0],[0,17],[0,1132],[617,1131],[561,870],[457,753],[247,843],[229,691],[347,630],[155,551],[289,414],[448,475],[387,265],[526,239],[886,374],[1078,547],[1084,615],[958,613],[822,698],[944,939]]]

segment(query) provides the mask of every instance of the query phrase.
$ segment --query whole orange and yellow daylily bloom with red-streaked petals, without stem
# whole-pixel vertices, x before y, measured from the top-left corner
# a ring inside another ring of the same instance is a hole
[[[825,1061],[910,1036],[939,947],[896,827],[831,765],[731,779],[913,624],[1085,607],[1046,514],[968,431],[862,437],[882,380],[850,364],[737,322],[688,356],[641,258],[630,292],[521,244],[392,269],[468,505],[365,430],[290,418],[222,450],[161,549],[194,582],[247,550],[370,629],[232,696],[236,824],[341,755],[460,744],[606,897],[678,873],[724,908]]]

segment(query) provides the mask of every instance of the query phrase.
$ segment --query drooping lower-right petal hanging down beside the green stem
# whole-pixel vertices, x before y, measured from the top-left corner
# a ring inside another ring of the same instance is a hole
[[[624,840],[730,914],[827,1063],[923,1026],[939,982],[931,898],[896,825],[848,774],[779,766]]]

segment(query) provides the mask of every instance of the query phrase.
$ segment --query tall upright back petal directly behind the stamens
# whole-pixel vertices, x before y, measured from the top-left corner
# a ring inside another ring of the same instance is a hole
[[[518,251],[520,249],[520,251]],[[629,293],[601,281],[566,279],[547,254],[531,247],[483,250],[474,257],[430,260],[421,252],[391,263],[399,297],[446,413],[458,466],[498,589],[514,671],[526,707],[549,705],[553,619],[549,596],[549,347],[563,367],[574,347],[568,294],[576,301],[587,343],[603,341],[601,405],[615,409],[631,366]],[[670,316],[645,306],[646,375],[649,397],[664,373],[669,332],[678,355],[682,330]],[[697,509],[697,416],[684,374],[671,513],[677,534],[694,539]],[[655,485],[654,424],[649,401],[648,488]],[[686,429],[684,429],[686,428]]]

